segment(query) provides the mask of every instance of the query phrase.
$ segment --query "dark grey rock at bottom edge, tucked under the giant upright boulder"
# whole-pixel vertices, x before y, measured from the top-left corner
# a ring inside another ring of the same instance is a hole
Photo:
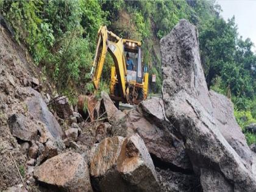
[[[233,185],[218,172],[208,169],[201,169],[201,185],[204,191],[234,191]]]

